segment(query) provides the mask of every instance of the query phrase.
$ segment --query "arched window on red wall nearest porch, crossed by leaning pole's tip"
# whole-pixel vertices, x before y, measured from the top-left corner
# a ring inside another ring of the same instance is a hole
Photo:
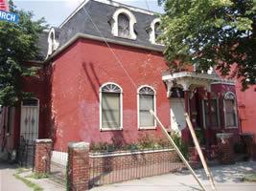
[[[150,86],[142,86],[138,89],[138,128],[155,129],[156,123],[150,110],[154,113],[155,92]]]

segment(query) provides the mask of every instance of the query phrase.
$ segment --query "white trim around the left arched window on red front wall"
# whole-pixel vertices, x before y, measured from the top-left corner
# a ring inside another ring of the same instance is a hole
[[[102,92],[102,88],[109,84],[116,85],[121,90],[121,93],[120,93],[120,127],[117,127],[117,128],[103,128],[103,121],[102,121],[103,92]],[[100,131],[117,131],[117,130],[123,130],[123,89],[121,88],[121,86],[119,86],[118,84],[116,84],[114,82],[107,82],[100,87]]]

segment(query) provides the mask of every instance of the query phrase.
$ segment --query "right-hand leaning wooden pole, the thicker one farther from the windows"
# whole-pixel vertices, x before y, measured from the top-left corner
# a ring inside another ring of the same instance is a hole
[[[206,176],[207,176],[208,180],[210,180],[211,186],[212,186],[213,190],[217,190],[216,186],[215,186],[215,183],[214,183],[214,180],[213,180],[213,177],[212,177],[212,174],[211,174],[211,172],[210,172],[210,170],[209,170],[209,168],[207,166],[207,163],[206,163],[206,161],[205,161],[205,159],[204,159],[204,157],[202,155],[201,148],[200,148],[199,143],[198,143],[198,138],[196,136],[196,133],[195,133],[195,130],[193,128],[193,125],[192,125],[192,122],[190,120],[190,117],[189,117],[189,115],[187,113],[185,113],[184,116],[186,118],[186,121],[187,121],[189,130],[190,130],[190,133],[192,135],[193,141],[195,143],[195,146],[196,146],[196,148],[198,150],[198,155],[199,155],[199,158],[201,160],[201,163],[202,163],[202,166],[204,168],[204,171],[206,173]]]

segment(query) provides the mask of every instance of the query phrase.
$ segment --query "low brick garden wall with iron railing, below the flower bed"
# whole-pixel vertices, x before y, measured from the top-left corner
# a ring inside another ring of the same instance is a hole
[[[175,150],[119,152],[90,155],[90,185],[140,179],[184,167]]]

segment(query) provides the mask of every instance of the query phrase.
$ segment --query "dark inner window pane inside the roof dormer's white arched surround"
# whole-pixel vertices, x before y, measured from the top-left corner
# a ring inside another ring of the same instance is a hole
[[[124,13],[118,16],[118,35],[121,37],[129,37],[129,19]]]

